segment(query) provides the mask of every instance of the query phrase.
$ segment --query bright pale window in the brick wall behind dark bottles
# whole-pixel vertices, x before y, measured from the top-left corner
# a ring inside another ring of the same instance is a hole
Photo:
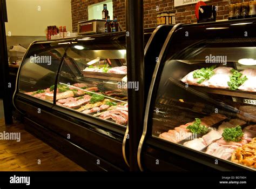
[[[88,19],[102,19],[103,4],[107,4],[107,10],[109,11],[110,19],[113,18],[113,2],[107,0],[101,3],[88,6]]]

